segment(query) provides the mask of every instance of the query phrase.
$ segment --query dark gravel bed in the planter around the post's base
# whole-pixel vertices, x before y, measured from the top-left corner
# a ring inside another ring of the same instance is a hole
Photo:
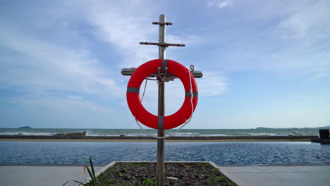
[[[170,184],[169,177],[178,180]],[[157,163],[119,162],[97,178],[105,185],[157,185]],[[164,185],[236,185],[209,163],[165,163],[164,178]]]

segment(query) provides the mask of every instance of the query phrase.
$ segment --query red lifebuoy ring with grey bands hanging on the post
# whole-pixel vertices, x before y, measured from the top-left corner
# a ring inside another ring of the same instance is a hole
[[[176,111],[176,113],[164,117],[155,116],[152,113],[149,113],[145,107],[142,106],[139,95],[140,86],[143,80],[145,80],[145,78],[150,74],[157,73],[159,67],[161,67],[162,72],[164,72],[164,69],[167,67],[167,71],[176,75],[176,77],[181,80],[185,88],[185,101],[183,101],[183,106],[181,106],[181,108]],[[128,107],[130,108],[133,116],[135,116],[135,118],[139,120],[140,123],[154,129],[158,129],[158,126],[160,126],[159,128],[163,126],[163,129],[167,130],[176,128],[179,125],[185,123],[185,120],[188,120],[192,114],[192,107],[190,102],[190,77],[188,75],[191,77],[191,85],[193,87],[193,110],[195,111],[198,101],[197,84],[193,74],[190,73],[189,70],[185,68],[185,66],[169,59],[155,59],[148,61],[147,63],[144,63],[142,66],[137,68],[133,75],[130,77],[126,93]]]

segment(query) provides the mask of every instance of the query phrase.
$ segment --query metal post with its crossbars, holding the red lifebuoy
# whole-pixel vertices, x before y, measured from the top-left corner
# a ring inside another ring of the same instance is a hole
[[[184,44],[170,44],[165,42],[165,25],[172,25],[172,23],[165,22],[165,16],[159,16],[159,22],[152,22],[153,25],[159,25],[159,41],[156,42],[140,42],[140,44],[157,45],[159,46],[159,58],[165,59],[165,50],[168,46],[185,46]],[[136,68],[123,68],[122,75],[132,75]],[[193,76],[200,78],[203,76],[201,71],[195,70]],[[164,117],[165,104],[164,104],[164,81],[159,77],[158,79],[158,116]],[[158,127],[158,137],[164,137],[163,126]],[[157,139],[157,186],[164,185],[164,138]]]

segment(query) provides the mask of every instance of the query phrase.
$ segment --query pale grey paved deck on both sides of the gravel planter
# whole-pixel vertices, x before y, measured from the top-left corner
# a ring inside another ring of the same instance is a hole
[[[102,167],[95,167],[98,171]],[[219,166],[239,186],[329,186],[330,166]],[[0,166],[3,186],[63,185],[87,178],[82,166]]]

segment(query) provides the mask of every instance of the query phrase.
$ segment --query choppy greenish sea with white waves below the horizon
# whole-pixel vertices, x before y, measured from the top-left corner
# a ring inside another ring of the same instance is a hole
[[[166,130],[170,135],[176,130]],[[66,128],[0,128],[0,135],[56,135],[71,132],[86,132],[87,136],[147,136],[140,129],[66,129]],[[157,130],[147,129],[157,135]],[[251,129],[182,129],[176,136],[288,136],[288,135],[319,135],[319,128],[251,128]]]

